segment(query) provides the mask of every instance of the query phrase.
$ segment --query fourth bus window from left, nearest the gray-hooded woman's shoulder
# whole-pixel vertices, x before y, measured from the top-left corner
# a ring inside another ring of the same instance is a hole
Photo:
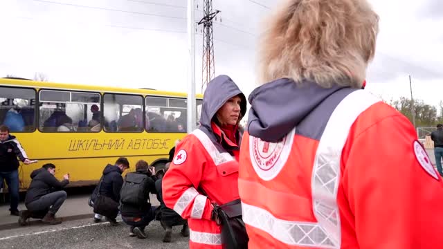
[[[146,97],[146,131],[186,132],[186,99]]]

